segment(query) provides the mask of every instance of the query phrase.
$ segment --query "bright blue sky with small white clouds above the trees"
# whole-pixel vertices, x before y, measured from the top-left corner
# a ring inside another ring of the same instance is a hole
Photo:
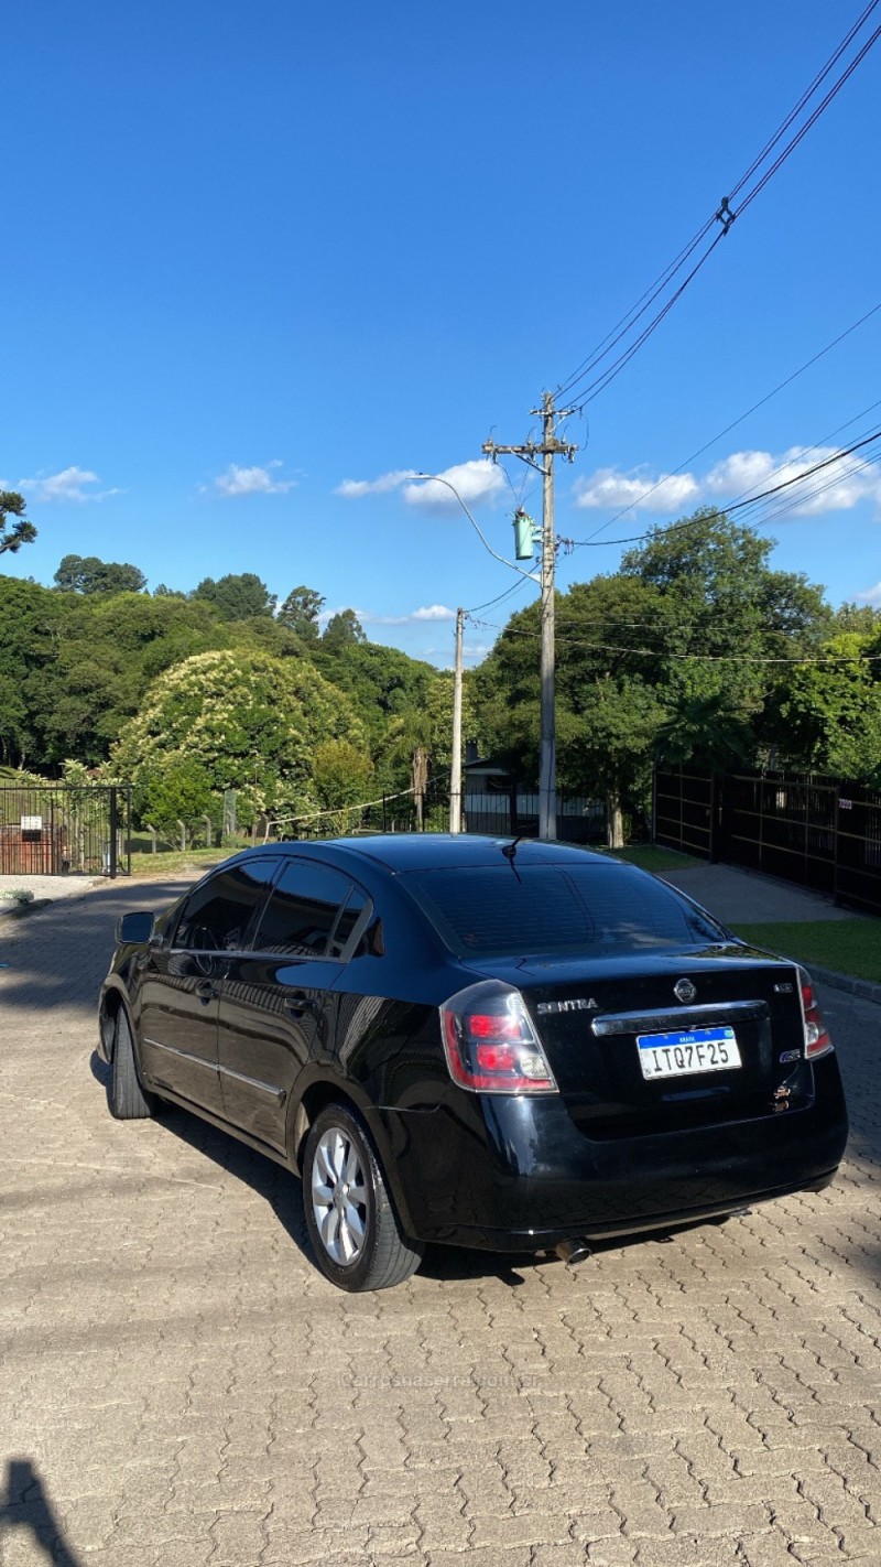
[[[538,516],[540,489],[516,461],[487,469],[482,442],[535,434],[541,392],[714,213],[861,9],[6,8],[0,480],[39,537],[3,570],[50,583],[63,555],[100,555],[185,591],[254,570],[449,664],[455,606],[515,577],[452,497],[401,476],[446,473],[512,552],[515,501]],[[609,539],[725,505],[881,425],[878,310],[685,462],[881,304],[879,110],[881,42],[570,422],[560,534],[634,501]],[[765,519],[773,564],[881,603],[878,469],[832,476]],[[620,555],[563,553],[559,583]],[[494,635],[469,625],[471,663]]]

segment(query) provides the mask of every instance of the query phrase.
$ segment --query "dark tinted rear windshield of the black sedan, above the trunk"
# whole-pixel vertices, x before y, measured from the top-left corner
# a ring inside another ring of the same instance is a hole
[[[725,940],[709,915],[621,865],[502,865],[402,876],[454,953],[496,956]]]

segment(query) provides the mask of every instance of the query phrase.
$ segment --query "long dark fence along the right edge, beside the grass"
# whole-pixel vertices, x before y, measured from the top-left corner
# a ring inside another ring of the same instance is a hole
[[[657,769],[654,841],[881,914],[881,790],[867,784]]]

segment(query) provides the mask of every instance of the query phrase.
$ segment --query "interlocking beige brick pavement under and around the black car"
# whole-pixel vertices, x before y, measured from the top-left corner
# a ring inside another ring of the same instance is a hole
[[[108,1116],[94,1000],[150,898],[0,925],[3,1567],[881,1562],[878,1008],[826,997],[831,1191],[347,1297],[283,1171]]]

